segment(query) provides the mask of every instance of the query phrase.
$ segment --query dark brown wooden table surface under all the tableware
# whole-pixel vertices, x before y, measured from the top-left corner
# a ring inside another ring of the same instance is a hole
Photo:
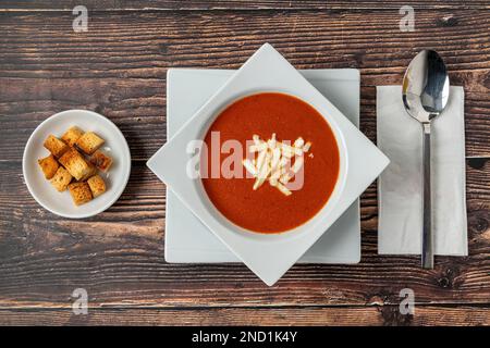
[[[488,1],[97,1],[74,33],[78,1],[0,3],[0,324],[490,324],[490,3]],[[402,33],[402,5],[415,32]],[[360,128],[376,140],[376,86],[438,50],[465,88],[469,256],[377,254],[376,184],[362,196],[363,257],[304,264],[267,287],[246,266],[168,264],[166,187],[146,160],[166,142],[170,67],[237,69],[272,44],[298,69],[356,67]],[[30,133],[88,109],[111,119],[133,156],[130,183],[105,213],[72,221],[40,208],[22,176]],[[71,310],[75,288],[87,315]],[[399,312],[415,291],[414,315]]]

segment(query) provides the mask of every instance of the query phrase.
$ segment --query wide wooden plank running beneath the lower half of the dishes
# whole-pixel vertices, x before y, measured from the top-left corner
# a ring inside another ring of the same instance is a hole
[[[70,221],[37,206],[20,164],[0,163],[0,308],[63,308],[86,288],[93,308],[113,306],[319,306],[489,303],[490,163],[467,167],[469,256],[377,254],[376,187],[362,199],[363,259],[356,265],[296,265],[273,287],[240,264],[169,264],[163,256],[164,186],[135,165],[122,198],[97,217]]]

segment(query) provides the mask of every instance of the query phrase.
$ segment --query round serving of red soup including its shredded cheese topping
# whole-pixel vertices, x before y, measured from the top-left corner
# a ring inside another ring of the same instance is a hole
[[[242,153],[223,147],[228,140],[241,145]],[[283,145],[287,141],[290,147]],[[228,220],[253,232],[280,233],[304,224],[327,203],[339,176],[339,148],[329,124],[311,105],[289,95],[264,92],[233,102],[211,124],[205,142],[208,156],[201,158],[201,177],[209,199]],[[264,150],[268,144],[270,149]],[[250,145],[256,145],[254,150]],[[268,151],[262,159],[260,151]],[[291,151],[297,153],[291,157]],[[232,169],[243,175],[230,177],[221,170],[211,175],[212,165],[221,169],[231,156],[249,158],[250,166],[235,161]],[[271,170],[287,160],[289,169]],[[295,174],[291,170],[296,161],[301,171]],[[283,181],[284,173],[294,177]],[[301,185],[295,188],[296,178]]]

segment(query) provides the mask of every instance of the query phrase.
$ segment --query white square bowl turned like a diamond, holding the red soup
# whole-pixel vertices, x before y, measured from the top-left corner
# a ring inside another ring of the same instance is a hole
[[[329,122],[339,145],[339,182],[327,204],[307,223],[282,234],[256,234],[233,225],[207,198],[199,178],[188,175],[194,151],[213,116],[231,101],[260,91],[293,95]],[[266,44],[148,161],[148,166],[199,220],[266,284],[273,285],[347,210],[388,165],[388,158],[272,46]]]

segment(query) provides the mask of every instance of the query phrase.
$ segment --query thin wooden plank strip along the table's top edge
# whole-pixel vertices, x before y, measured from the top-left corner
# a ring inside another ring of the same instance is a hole
[[[76,0],[4,0],[0,4],[1,9],[9,10],[66,10],[71,11],[79,1]],[[131,0],[85,0],[84,5],[90,10],[366,10],[366,9],[400,9],[406,5],[403,0],[395,1],[348,1],[348,0],[154,0],[154,1],[131,1]],[[488,9],[488,1],[481,0],[415,0],[409,5],[415,9]]]

